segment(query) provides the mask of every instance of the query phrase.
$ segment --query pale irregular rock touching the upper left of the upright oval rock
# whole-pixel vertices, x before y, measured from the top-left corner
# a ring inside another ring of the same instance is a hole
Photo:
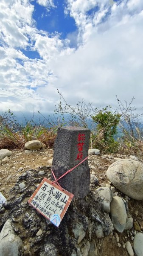
[[[110,212],[110,203],[112,201],[112,192],[110,188],[102,187],[97,189],[98,195],[103,198],[103,201],[101,202],[102,209],[104,212]]]

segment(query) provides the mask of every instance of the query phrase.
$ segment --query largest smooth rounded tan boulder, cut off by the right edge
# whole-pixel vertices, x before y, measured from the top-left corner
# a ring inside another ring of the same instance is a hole
[[[143,200],[143,163],[131,159],[118,160],[109,166],[107,177],[125,195]]]

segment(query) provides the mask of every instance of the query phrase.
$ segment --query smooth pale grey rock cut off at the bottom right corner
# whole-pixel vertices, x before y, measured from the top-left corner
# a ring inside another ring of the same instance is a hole
[[[135,235],[133,248],[137,256],[143,256],[143,233],[139,232]]]

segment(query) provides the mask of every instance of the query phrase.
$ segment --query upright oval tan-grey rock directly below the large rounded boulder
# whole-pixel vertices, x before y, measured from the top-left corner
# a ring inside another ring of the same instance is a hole
[[[126,207],[122,198],[114,196],[111,201],[111,220],[118,232],[123,232],[126,226],[127,214]]]

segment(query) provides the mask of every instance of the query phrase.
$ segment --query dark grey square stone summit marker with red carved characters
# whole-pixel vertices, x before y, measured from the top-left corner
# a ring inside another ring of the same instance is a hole
[[[56,179],[75,167],[88,156],[90,130],[81,127],[58,129],[54,144],[52,170]],[[52,180],[55,180],[52,178]],[[74,195],[84,198],[90,190],[90,168],[88,160],[58,180],[60,186]]]

